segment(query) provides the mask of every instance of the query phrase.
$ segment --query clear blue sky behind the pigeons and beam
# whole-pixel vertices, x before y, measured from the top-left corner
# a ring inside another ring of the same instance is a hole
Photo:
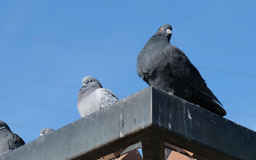
[[[26,143],[78,120],[84,76],[123,99],[164,23],[227,111],[256,131],[255,1],[1,1],[1,120]]]

